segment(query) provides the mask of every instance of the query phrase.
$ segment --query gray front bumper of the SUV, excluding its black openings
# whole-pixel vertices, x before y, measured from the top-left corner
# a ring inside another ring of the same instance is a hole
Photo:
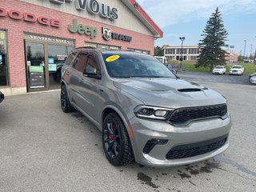
[[[136,162],[144,166],[180,166],[194,162],[200,162],[208,158],[213,158],[217,154],[225,151],[229,142],[225,143],[216,150],[205,154],[198,154],[188,158],[167,159],[166,154],[174,146],[194,145],[198,142],[207,142],[213,138],[220,138],[230,133],[232,125],[230,115],[222,120],[221,118],[205,119],[191,122],[188,126],[171,126],[167,122],[154,122],[141,118],[131,118],[130,125],[134,132],[131,143],[134,150]],[[148,154],[143,153],[146,143],[150,139],[168,140],[164,144],[155,145]]]

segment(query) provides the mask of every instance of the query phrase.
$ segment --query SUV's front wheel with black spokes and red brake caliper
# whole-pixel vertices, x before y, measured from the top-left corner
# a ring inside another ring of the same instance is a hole
[[[102,127],[102,145],[107,160],[113,166],[125,166],[134,162],[126,126],[118,114],[106,115]]]

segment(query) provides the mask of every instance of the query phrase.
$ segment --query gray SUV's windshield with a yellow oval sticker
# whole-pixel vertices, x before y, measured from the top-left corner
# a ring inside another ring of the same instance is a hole
[[[103,52],[102,57],[112,78],[176,78],[158,59],[147,54]]]

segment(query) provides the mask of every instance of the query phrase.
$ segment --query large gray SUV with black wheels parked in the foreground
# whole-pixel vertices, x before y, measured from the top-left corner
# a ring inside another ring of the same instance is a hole
[[[114,166],[178,166],[229,146],[226,98],[186,82],[150,55],[77,48],[62,67],[61,105],[102,131]]]

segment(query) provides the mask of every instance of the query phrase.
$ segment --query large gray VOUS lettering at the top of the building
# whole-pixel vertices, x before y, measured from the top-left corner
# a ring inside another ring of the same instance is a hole
[[[104,3],[97,0],[50,0],[58,4],[65,4],[65,2],[74,2],[77,10],[87,10],[89,14],[98,14],[102,18],[109,18],[110,20],[118,19],[118,9],[111,8]]]

